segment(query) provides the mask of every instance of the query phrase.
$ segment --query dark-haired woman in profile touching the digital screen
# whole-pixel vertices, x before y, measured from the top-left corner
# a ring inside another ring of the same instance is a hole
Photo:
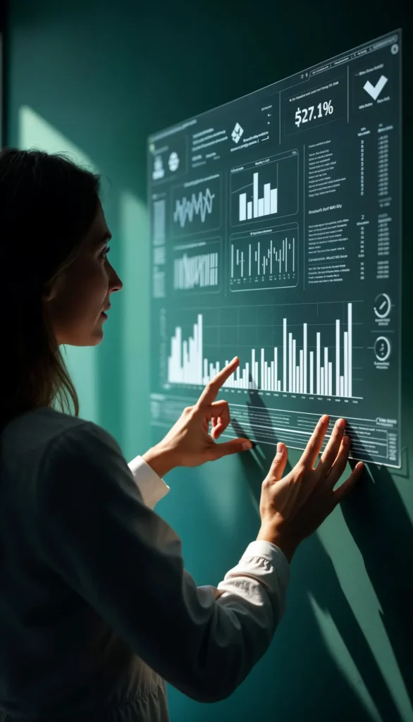
[[[216,443],[230,420],[217,393],[238,359],[129,466],[112,436],[77,417],[60,347],[100,343],[122,287],[98,192],[95,175],[62,157],[0,154],[0,722],[164,722],[164,680],[204,702],[230,695],[271,641],[295,549],[362,469],[334,491],[349,453],[343,419],[316,469],[328,417],[284,479],[279,444],[257,539],[217,588],[196,587],[152,508],[173,467],[251,447]]]

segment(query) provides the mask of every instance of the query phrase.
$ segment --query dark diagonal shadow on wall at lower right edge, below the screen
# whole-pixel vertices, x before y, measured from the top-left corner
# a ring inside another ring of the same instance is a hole
[[[413,527],[389,469],[371,464],[342,502],[342,512],[362,554],[383,627],[413,703]]]

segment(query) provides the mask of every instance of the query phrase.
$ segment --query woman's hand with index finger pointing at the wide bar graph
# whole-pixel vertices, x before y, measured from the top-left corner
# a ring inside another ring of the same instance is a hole
[[[195,406],[188,406],[162,441],[144,454],[144,461],[160,477],[175,466],[200,466],[205,461],[246,451],[253,447],[248,439],[231,439],[217,444],[230,423],[230,409],[225,400],[216,401],[217,393],[239,365],[238,357],[225,366],[202,391]],[[209,424],[212,425],[209,433]]]

